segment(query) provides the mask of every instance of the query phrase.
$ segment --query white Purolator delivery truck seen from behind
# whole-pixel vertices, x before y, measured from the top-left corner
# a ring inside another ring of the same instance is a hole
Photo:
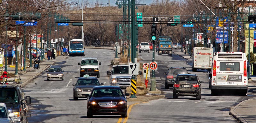
[[[193,66],[192,71],[197,69],[212,68],[213,48],[208,47],[194,47],[193,48]]]

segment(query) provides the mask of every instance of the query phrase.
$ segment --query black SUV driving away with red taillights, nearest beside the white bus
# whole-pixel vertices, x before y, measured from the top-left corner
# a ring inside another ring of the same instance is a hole
[[[201,83],[204,83],[204,81],[199,81],[196,74],[177,75],[173,85],[173,99],[177,99],[178,96],[192,96],[200,100]]]

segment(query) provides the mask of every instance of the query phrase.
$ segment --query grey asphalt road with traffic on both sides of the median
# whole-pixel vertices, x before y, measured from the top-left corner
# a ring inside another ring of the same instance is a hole
[[[180,50],[180,49],[179,49]],[[175,50],[174,50],[175,52]],[[110,70],[110,63],[114,58],[115,51],[106,49],[86,49],[86,57],[97,57],[100,65],[100,83],[109,85],[109,78],[106,74]],[[128,102],[128,118],[113,116],[93,116],[87,119],[86,99],[73,100],[73,86],[79,77],[79,65],[82,57],[68,57],[66,60],[57,60],[56,66],[61,66],[65,71],[64,81],[46,81],[46,72],[38,76],[32,83],[27,84],[23,90],[26,96],[31,96],[29,123],[149,123],[149,122],[225,122],[235,123],[236,120],[229,115],[230,107],[239,102],[255,97],[255,94],[248,92],[248,96],[237,95],[211,96],[208,89],[209,79],[206,70],[192,72],[192,62],[173,54],[155,54],[155,61],[158,62],[156,70],[156,87],[165,95],[164,99],[152,100],[149,102]],[[140,62],[152,61],[150,53],[139,53]],[[194,97],[179,97],[172,99],[172,88],[164,89],[164,71],[171,66],[184,66],[191,74],[197,74],[202,84],[202,98],[196,100]]]

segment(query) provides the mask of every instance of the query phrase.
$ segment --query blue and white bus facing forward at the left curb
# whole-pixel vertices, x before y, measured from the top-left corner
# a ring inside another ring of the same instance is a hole
[[[84,40],[72,39],[69,41],[69,56],[80,55],[85,56]]]

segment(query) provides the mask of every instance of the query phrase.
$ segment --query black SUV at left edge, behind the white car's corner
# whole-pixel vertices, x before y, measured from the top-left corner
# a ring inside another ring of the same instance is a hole
[[[29,96],[24,97],[24,92],[18,85],[0,85],[0,102],[5,103],[10,113],[15,114],[15,117],[12,117],[12,121],[20,123],[28,122],[27,104],[31,104],[31,98]]]

